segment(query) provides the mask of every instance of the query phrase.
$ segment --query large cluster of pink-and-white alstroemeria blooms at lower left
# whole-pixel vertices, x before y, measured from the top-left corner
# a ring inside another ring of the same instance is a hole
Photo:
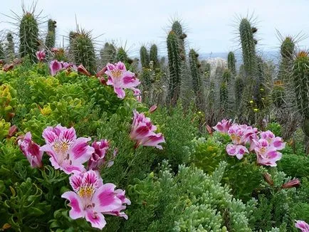
[[[98,172],[103,165],[110,167],[117,154],[113,152],[112,159],[107,161],[105,154],[109,144],[106,139],[95,141],[90,146],[90,137],[77,137],[73,127],[61,125],[46,127],[43,138],[46,144],[40,147],[33,142],[31,132],[27,132],[18,140],[19,147],[31,167],[42,167],[43,152],[46,152],[55,169],[70,174],[70,185],[74,191],[67,191],[61,197],[70,201],[71,218],[85,218],[93,227],[100,229],[106,224],[103,214],[127,219],[123,210],[130,200],[125,197],[125,191],[115,189],[115,184],[103,184]],[[85,162],[88,162],[87,169]]]

